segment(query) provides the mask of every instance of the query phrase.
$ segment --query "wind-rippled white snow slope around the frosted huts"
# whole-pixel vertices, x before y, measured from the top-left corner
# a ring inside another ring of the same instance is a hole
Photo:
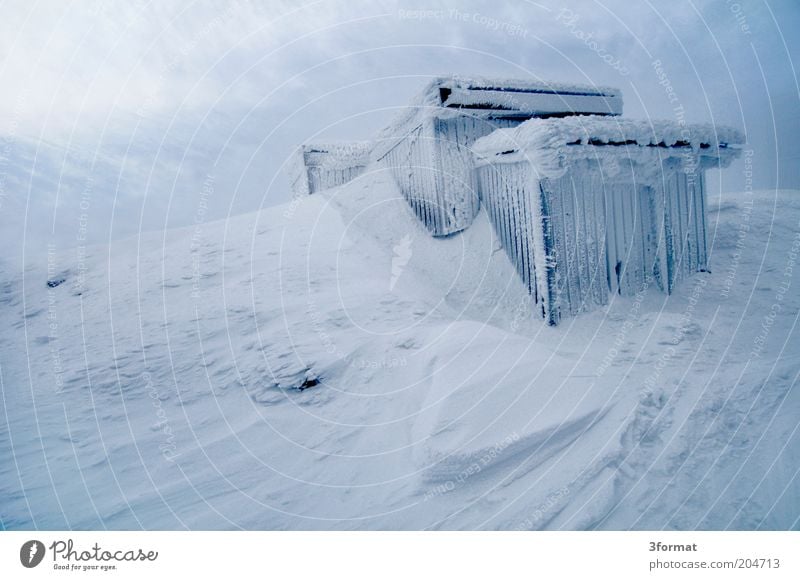
[[[800,197],[710,204],[712,273],[558,328],[377,170],[6,265],[0,523],[798,528]]]

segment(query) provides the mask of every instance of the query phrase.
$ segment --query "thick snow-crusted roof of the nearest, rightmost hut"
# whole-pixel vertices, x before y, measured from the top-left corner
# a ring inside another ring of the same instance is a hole
[[[479,164],[526,160],[542,174],[557,175],[574,158],[610,155],[652,163],[688,153],[727,165],[744,141],[737,129],[719,125],[576,116],[531,119],[498,129],[478,139],[472,151]],[[603,145],[611,147],[597,147]]]

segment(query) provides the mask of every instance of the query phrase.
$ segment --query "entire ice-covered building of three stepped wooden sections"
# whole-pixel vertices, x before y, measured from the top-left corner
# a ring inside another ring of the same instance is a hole
[[[374,143],[298,150],[295,194],[391,172],[433,236],[481,205],[550,324],[706,269],[705,170],[744,139],[728,128],[619,117],[618,90],[508,79],[428,83]]]

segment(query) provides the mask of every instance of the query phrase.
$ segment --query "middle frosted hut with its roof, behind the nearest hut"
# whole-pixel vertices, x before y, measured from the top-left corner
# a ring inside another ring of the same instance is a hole
[[[476,139],[532,117],[619,115],[617,89],[509,79],[444,77],[379,135],[372,158],[391,170],[434,236],[468,227],[479,208]]]

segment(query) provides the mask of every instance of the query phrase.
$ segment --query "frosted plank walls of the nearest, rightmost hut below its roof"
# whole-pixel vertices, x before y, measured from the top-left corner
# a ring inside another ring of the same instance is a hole
[[[587,161],[586,163],[591,163]],[[478,168],[497,237],[550,324],[706,268],[703,175],[662,184],[609,179],[580,164],[537,180],[527,163]]]

